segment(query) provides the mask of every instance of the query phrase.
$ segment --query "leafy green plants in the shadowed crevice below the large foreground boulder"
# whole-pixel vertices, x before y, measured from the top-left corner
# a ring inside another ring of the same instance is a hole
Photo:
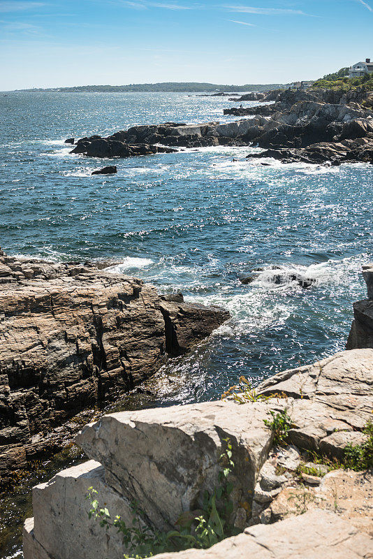
[[[90,487],[86,498],[90,509],[88,516],[99,522],[105,530],[116,529],[122,535],[123,544],[129,555],[125,558],[144,559],[158,553],[182,551],[184,549],[207,549],[222,539],[237,534],[230,524],[233,502],[230,498],[233,484],[228,477],[233,471],[233,450],[229,439],[224,439],[225,450],[221,453],[219,463],[219,486],[210,494],[203,495],[203,508],[186,511],[180,515],[175,525],[178,529],[161,532],[147,525],[145,512],[138,503],[131,502],[132,522],[128,525],[121,516],[112,517],[106,507],[100,507],[97,491]]]

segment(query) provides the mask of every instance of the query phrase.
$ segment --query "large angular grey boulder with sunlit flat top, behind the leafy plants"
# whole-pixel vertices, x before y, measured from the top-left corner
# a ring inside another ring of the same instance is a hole
[[[250,509],[272,440],[263,423],[272,407],[226,401],[110,414],[76,441],[105,466],[110,485],[136,499],[157,528],[169,529],[182,512],[200,507],[203,491],[218,486],[226,437],[233,445],[235,509],[238,503]]]

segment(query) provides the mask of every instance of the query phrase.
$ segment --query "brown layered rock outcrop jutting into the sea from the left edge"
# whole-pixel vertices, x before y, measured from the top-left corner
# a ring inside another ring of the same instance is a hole
[[[184,354],[229,317],[166,303],[140,279],[89,263],[1,260],[1,482],[61,444],[52,428],[132,389],[166,352]]]

